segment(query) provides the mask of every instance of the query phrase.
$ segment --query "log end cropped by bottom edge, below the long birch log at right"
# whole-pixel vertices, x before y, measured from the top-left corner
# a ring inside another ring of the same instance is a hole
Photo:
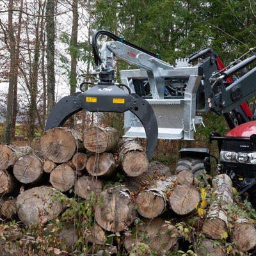
[[[211,239],[203,239],[200,244],[196,244],[195,253],[198,256],[225,256],[225,246]]]

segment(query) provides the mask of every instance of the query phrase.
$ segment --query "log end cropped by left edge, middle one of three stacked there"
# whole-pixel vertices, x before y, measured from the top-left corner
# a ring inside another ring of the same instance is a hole
[[[20,184],[13,175],[6,170],[0,170],[0,195],[19,192]]]

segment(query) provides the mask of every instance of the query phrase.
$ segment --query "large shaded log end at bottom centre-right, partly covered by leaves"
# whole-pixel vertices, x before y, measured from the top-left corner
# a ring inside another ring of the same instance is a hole
[[[175,236],[177,228],[172,226],[168,228],[165,221],[161,217],[149,219],[141,219],[143,225],[136,225],[134,233],[130,236],[124,236],[124,247],[127,251],[135,251],[138,243],[143,243],[147,239],[147,244],[150,250],[155,252],[175,251],[177,248],[178,239]],[[146,237],[145,237],[146,236]],[[150,255],[148,253],[147,255]]]

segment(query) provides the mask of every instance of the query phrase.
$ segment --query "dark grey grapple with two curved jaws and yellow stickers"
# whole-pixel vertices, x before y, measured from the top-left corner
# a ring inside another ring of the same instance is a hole
[[[128,94],[114,84],[96,84],[90,90],[78,95],[63,97],[52,108],[45,125],[45,131],[60,127],[70,116],[85,109],[92,112],[131,111],[143,125],[147,135],[147,157],[150,159],[157,144],[158,125],[156,116],[147,100],[135,93]]]

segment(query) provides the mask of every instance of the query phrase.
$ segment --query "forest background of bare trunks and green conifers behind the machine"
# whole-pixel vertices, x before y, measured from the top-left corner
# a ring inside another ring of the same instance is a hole
[[[228,65],[255,47],[256,1],[2,0],[0,142],[22,138],[33,143],[44,132],[52,106],[79,91],[83,81],[95,81],[91,42],[100,29],[159,53],[171,64],[210,47]],[[117,60],[115,68],[118,80],[118,70],[131,66]],[[106,113],[102,123],[122,132],[122,118]],[[219,116],[205,115],[204,123],[196,143],[205,145],[211,131],[227,131]],[[68,125],[83,132],[91,124],[92,115],[82,111]],[[159,141],[156,155],[161,152],[166,159],[177,147]]]

